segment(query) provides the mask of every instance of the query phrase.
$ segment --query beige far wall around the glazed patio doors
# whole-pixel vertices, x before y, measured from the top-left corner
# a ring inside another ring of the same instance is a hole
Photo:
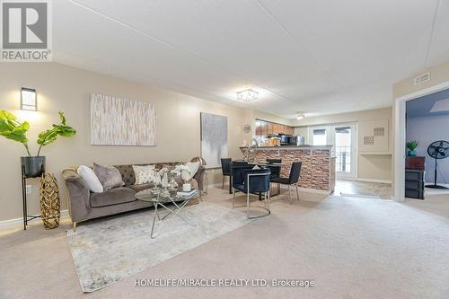
[[[365,110],[333,115],[323,115],[314,118],[295,120],[295,134],[305,136],[305,143],[310,143],[308,127],[325,124],[356,122],[366,120],[389,119],[390,150],[392,150],[392,108],[378,110]],[[392,154],[358,154],[357,176],[358,179],[367,180],[392,180]]]

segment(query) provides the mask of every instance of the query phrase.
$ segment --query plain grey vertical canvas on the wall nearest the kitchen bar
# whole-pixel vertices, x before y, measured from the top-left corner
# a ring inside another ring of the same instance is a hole
[[[220,167],[228,157],[227,117],[201,112],[201,157],[207,168]]]

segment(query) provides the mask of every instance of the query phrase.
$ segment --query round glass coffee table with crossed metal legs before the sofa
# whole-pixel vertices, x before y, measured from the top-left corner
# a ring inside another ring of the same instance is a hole
[[[189,215],[185,215],[184,213],[181,213],[181,211],[184,207],[186,207],[190,199],[198,198],[198,190],[195,190],[195,192],[188,196],[184,196],[177,195],[177,191],[168,191],[167,189],[145,189],[143,191],[137,192],[135,197],[138,200],[154,203],[153,224],[151,226],[152,239],[157,237],[157,235],[154,236],[153,234],[156,218],[158,221],[163,222],[163,220],[165,220],[170,215],[178,216],[188,224],[192,226],[196,225],[196,223],[189,217]],[[160,207],[163,207],[167,211],[167,214],[163,215],[163,217],[159,215],[158,208]]]

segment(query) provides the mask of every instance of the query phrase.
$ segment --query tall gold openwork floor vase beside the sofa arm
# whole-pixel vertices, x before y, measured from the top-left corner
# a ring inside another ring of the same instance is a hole
[[[46,230],[59,226],[60,207],[57,180],[54,175],[43,173],[40,178],[40,217]]]

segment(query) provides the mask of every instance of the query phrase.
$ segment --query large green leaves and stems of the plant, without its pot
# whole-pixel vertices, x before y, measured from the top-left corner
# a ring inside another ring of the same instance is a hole
[[[38,154],[42,146],[49,145],[57,140],[57,136],[74,136],[76,130],[66,123],[64,113],[59,111],[60,124],[53,124],[53,128],[50,128],[44,132],[41,132],[37,143],[39,146]],[[27,121],[20,122],[12,113],[5,110],[0,110],[0,135],[8,139],[21,143],[25,146],[27,154],[31,156],[28,148],[28,138],[26,133],[30,129],[30,124]]]

